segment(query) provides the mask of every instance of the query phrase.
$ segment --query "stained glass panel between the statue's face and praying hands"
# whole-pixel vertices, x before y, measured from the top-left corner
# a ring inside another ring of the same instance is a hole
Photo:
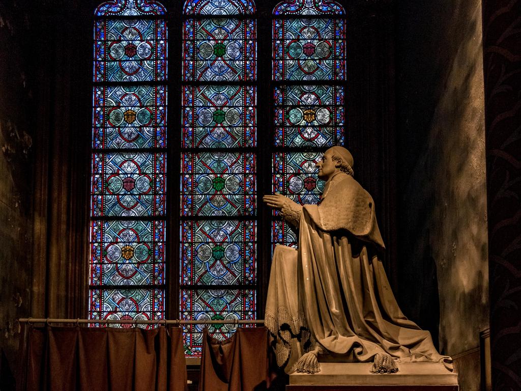
[[[324,191],[315,164],[320,152],[278,152],[273,155],[273,192],[299,204],[317,204]]]

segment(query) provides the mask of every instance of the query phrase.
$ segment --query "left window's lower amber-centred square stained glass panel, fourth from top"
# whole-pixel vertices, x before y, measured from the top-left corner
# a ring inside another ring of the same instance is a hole
[[[164,221],[91,223],[91,285],[162,285]]]

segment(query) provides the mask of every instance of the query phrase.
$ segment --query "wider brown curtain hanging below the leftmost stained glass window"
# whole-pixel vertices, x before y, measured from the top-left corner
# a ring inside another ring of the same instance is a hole
[[[180,328],[30,327],[19,390],[185,391]]]

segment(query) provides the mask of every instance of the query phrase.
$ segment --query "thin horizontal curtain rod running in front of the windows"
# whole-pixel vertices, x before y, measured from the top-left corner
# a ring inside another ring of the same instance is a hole
[[[232,321],[225,321],[225,320],[212,320],[212,321],[182,321],[179,319],[173,319],[173,320],[146,320],[146,321],[140,321],[140,320],[132,320],[132,319],[120,319],[120,320],[113,320],[113,319],[55,319],[51,317],[47,318],[33,318],[33,317],[22,317],[18,319],[18,322],[20,323],[74,323],[74,324],[85,324],[85,323],[92,323],[92,324],[157,324],[157,325],[167,325],[167,324],[173,324],[173,325],[181,325],[181,324],[264,324],[264,319],[256,319],[256,320],[232,320]]]

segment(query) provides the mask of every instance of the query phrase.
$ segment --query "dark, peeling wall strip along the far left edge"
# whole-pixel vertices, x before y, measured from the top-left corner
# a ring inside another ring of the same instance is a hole
[[[34,138],[31,23],[22,4],[0,3],[0,347],[15,368],[32,278]],[[6,360],[0,383],[6,386]]]

